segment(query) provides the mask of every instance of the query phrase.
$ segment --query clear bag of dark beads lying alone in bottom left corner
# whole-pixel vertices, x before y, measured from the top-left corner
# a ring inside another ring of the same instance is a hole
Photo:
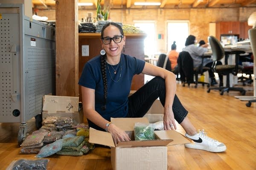
[[[47,170],[49,159],[28,160],[19,159],[12,161],[6,170]]]

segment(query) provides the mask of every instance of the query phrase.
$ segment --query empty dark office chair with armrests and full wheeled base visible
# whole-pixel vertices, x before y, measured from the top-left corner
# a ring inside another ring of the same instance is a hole
[[[212,48],[212,57],[214,60],[212,64],[212,71],[215,73],[226,75],[227,81],[226,81],[225,87],[208,88],[207,93],[209,93],[211,90],[219,90],[221,91],[220,94],[223,95],[225,91],[227,91],[227,93],[229,91],[240,91],[242,95],[245,95],[246,91],[244,90],[244,88],[230,87],[230,76],[229,76],[230,73],[236,76],[238,71],[243,68],[241,65],[239,65],[239,54],[244,53],[244,51],[225,52],[220,42],[213,36],[209,36],[208,41]],[[227,64],[227,58],[229,54],[236,54],[236,65]],[[217,61],[221,60],[224,56],[225,56],[225,65],[216,65]]]

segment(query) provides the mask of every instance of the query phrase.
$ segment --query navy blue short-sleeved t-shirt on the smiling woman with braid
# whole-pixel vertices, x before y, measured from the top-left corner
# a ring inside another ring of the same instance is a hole
[[[145,61],[125,54],[121,54],[120,59],[119,65],[111,66],[107,63],[108,94],[105,111],[101,108],[104,105],[101,56],[94,57],[85,63],[79,79],[79,85],[95,89],[95,110],[108,121],[111,117],[126,117],[131,80],[135,74],[140,74],[143,71],[145,65]],[[116,69],[116,74],[114,74],[114,69]],[[91,122],[89,122],[90,124]]]

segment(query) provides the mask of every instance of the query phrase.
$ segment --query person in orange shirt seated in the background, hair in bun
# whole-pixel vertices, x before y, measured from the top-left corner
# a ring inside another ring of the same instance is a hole
[[[168,56],[169,60],[171,61],[171,68],[172,68],[172,70],[174,70],[172,72],[174,74],[178,74],[179,68],[178,68],[178,64],[177,64],[177,59],[179,57],[179,53],[176,51],[177,46],[175,43],[176,42],[174,41],[171,46],[171,51],[169,51],[167,53],[167,56]]]

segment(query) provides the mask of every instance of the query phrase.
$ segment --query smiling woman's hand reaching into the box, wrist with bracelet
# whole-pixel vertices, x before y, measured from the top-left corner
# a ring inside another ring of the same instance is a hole
[[[124,130],[120,129],[113,123],[111,123],[108,126],[108,132],[111,133],[115,144],[118,144],[118,142],[120,142],[120,141],[130,141],[131,140],[130,137],[128,136],[128,134],[125,133]]]

